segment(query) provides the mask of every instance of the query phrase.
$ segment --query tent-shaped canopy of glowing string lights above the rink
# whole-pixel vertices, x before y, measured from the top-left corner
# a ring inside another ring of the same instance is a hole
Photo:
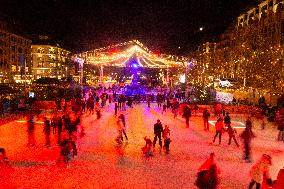
[[[123,47],[128,47],[123,49]],[[111,49],[121,48],[118,52],[109,52]],[[108,47],[86,51],[75,54],[74,60],[83,59],[86,64],[97,66],[118,66],[125,67],[128,60],[132,57],[137,57],[137,62],[140,67],[151,68],[171,68],[185,67],[188,59],[174,55],[154,54],[146,48],[138,40],[132,40]]]

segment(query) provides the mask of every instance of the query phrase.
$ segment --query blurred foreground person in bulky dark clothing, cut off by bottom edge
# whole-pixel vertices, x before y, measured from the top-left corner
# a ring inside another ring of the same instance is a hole
[[[198,169],[197,179],[195,185],[200,189],[216,189],[219,184],[218,169],[214,160],[215,154],[211,153],[207,159]]]

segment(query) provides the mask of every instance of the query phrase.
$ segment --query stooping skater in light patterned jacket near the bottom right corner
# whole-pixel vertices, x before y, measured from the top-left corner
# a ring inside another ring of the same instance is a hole
[[[265,179],[269,186],[273,185],[269,174],[271,165],[271,157],[267,154],[263,154],[261,159],[251,168],[249,172],[251,182],[248,189],[252,189],[254,184],[256,184],[256,189],[260,189],[263,179]]]

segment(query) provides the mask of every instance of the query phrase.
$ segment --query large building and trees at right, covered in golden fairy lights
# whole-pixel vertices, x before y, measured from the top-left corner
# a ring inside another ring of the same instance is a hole
[[[265,0],[240,15],[219,42],[195,52],[195,82],[230,79],[238,87],[284,91],[284,1]]]

